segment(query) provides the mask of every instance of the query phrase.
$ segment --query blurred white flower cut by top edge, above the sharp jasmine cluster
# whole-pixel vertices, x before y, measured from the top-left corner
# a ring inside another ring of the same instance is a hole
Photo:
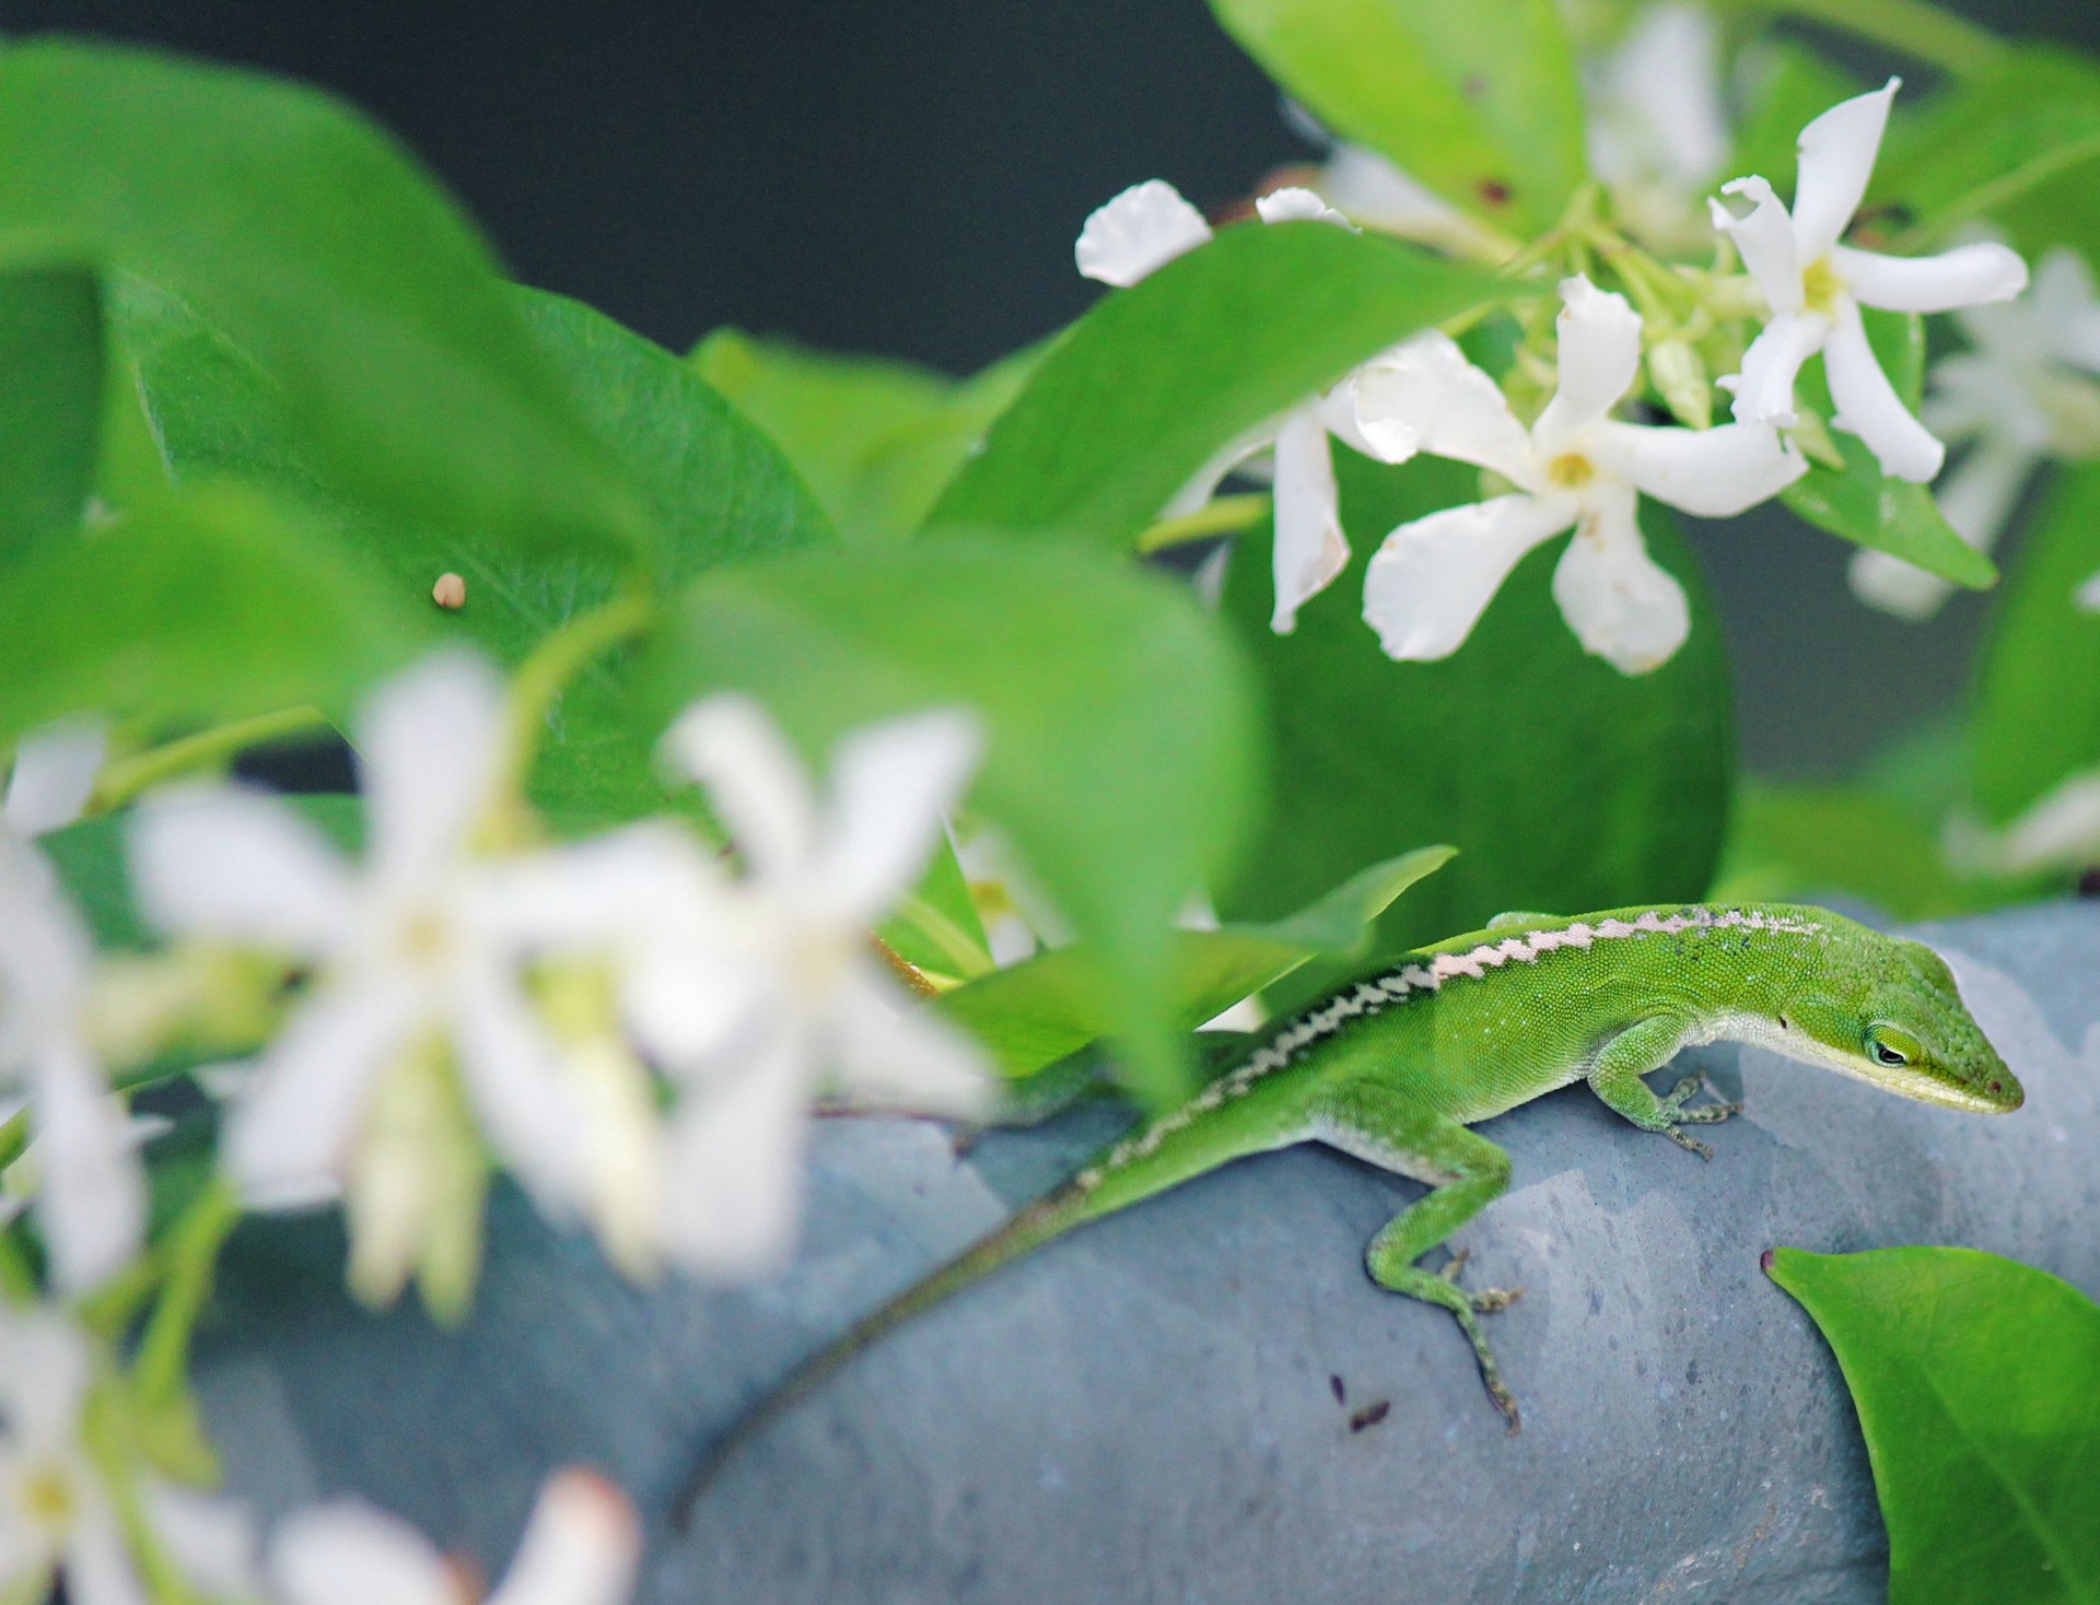
[[[1730,149],[1714,15],[1684,0],[1648,6],[1583,78],[1590,170],[1613,216],[1657,250],[1707,239],[1699,201]]]

